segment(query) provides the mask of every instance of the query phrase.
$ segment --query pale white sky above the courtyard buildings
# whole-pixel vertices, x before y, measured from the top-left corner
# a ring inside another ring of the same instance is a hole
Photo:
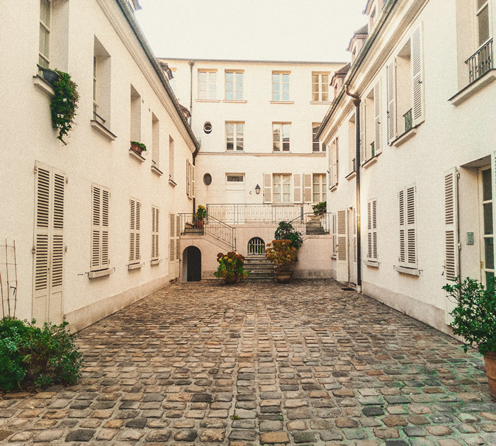
[[[366,0],[140,0],[157,57],[346,62]]]

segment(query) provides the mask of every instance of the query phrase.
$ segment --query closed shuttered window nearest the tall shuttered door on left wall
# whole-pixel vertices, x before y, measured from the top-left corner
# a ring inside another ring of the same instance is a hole
[[[91,186],[91,271],[108,268],[108,210],[110,192],[101,185]]]

